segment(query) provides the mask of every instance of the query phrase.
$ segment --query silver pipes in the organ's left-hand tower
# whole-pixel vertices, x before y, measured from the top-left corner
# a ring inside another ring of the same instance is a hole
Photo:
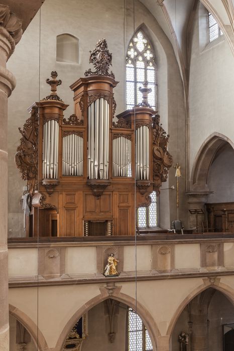
[[[44,179],[58,178],[58,136],[59,124],[54,119],[43,126],[42,173]]]

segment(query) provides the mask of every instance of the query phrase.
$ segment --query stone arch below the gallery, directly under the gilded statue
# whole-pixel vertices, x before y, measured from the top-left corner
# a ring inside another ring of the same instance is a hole
[[[120,301],[122,303],[125,303],[127,306],[135,309],[136,308],[136,300],[126,294],[123,294],[120,291],[121,287],[117,287],[117,289],[115,289],[115,291],[117,290],[117,292],[113,291],[113,293],[108,294],[108,292],[106,291],[106,289],[104,287],[100,288],[100,294],[93,297],[91,300],[87,301],[82,307],[80,307],[74,314],[73,316],[70,318],[70,320],[67,322],[67,324],[64,326],[60,337],[57,341],[56,347],[54,348],[54,351],[60,351],[62,349],[62,346],[64,344],[64,341],[66,339],[66,336],[68,335],[69,331],[72,329],[72,327],[74,326],[74,324],[77,322],[77,320],[88,310],[90,310],[92,307],[94,307],[95,305],[97,305],[100,302],[103,302],[104,300],[111,298],[113,300],[117,300]],[[139,302],[137,302],[137,313],[139,314],[139,316],[141,317],[141,319],[143,320],[151,341],[152,341],[152,345],[153,345],[153,351],[156,351],[157,349],[157,344],[158,344],[158,338],[161,336],[159,328],[155,322],[155,320],[153,319],[153,317],[151,316],[150,312]]]

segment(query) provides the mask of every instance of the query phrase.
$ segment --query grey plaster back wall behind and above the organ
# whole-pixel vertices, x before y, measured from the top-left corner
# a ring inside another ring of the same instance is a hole
[[[126,8],[124,9],[124,4]],[[62,16],[61,16],[62,14]],[[114,24],[114,25],[113,25]],[[41,25],[41,27],[40,27]],[[112,53],[112,70],[115,79],[120,81],[114,89],[117,103],[116,114],[125,109],[125,51],[134,33],[134,29],[143,26],[156,53],[158,77],[158,109],[161,121],[170,134],[169,151],[185,169],[185,111],[183,86],[170,41],[157,21],[145,8],[135,2],[135,23],[133,2],[104,0],[47,0],[41,11],[27,28],[22,41],[17,45],[14,55],[9,60],[9,69],[17,79],[17,87],[9,99],[9,236],[24,236],[23,212],[20,199],[23,193],[23,182],[14,163],[14,154],[21,137],[18,127],[23,126],[28,118],[27,108],[35,101],[48,95],[49,86],[45,83],[52,70],[58,72],[62,85],[59,96],[69,107],[65,117],[73,113],[73,94],[69,85],[83,77],[88,65],[88,53],[99,38],[106,38],[108,49]],[[41,28],[41,29],[40,29]],[[56,62],[56,37],[62,33],[72,34],[79,40],[78,63]],[[40,75],[39,75],[40,70]],[[176,107],[178,105],[178,112]],[[177,119],[180,116],[178,125]],[[177,132],[180,137],[177,145]],[[182,201],[185,187],[185,171],[181,179],[181,217],[186,221],[187,211],[183,211]],[[169,172],[169,186],[175,185],[174,169]],[[168,187],[167,187],[168,188]],[[161,226],[169,228],[171,219],[176,218],[175,192],[162,192]]]

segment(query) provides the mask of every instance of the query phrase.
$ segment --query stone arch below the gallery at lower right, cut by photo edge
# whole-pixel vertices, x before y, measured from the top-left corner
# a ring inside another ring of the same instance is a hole
[[[234,305],[234,290],[230,288],[228,285],[220,283],[220,278],[203,278],[203,284],[196,287],[191,293],[180,303],[178,308],[176,309],[170,324],[167,328],[167,335],[171,337],[177,319],[182,313],[185,306],[197,295],[199,295],[202,291],[213,288],[223,293],[223,295]]]

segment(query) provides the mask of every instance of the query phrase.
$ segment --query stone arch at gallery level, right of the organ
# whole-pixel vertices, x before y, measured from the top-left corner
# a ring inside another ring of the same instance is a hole
[[[216,152],[229,143],[234,149],[234,144],[231,140],[223,134],[212,133],[201,145],[191,173],[191,190],[192,191],[208,191],[207,177],[210,165]]]

